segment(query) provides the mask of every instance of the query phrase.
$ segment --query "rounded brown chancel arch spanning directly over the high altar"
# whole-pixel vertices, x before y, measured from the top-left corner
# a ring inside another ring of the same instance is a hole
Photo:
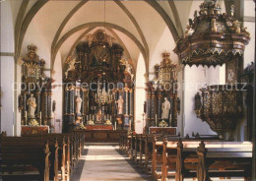
[[[146,55],[146,51],[144,49],[144,46],[141,44],[141,42],[128,30],[125,30],[117,25],[114,24],[110,24],[110,23],[104,23],[104,22],[93,22],[93,23],[88,23],[88,24],[83,24],[81,26],[78,26],[72,30],[69,30],[68,32],[66,32],[61,38],[60,40],[57,42],[55,49],[53,51],[53,60],[56,57],[56,54],[59,50],[59,48],[61,47],[61,45],[63,44],[63,42],[65,42],[65,40],[70,37],[73,33],[79,31],[79,30],[83,30],[83,29],[87,29],[87,28],[96,28],[96,27],[106,27],[106,28],[111,28],[114,30],[119,30],[121,32],[123,32],[124,34],[126,34],[128,37],[130,37],[134,43],[138,46],[138,48],[140,49],[143,57],[145,60],[147,60],[147,55]],[[148,71],[148,61],[145,61],[146,64],[146,70]]]

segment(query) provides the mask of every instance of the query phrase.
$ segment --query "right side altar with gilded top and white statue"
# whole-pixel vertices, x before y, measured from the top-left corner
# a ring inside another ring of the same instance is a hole
[[[180,113],[180,99],[177,97],[177,64],[169,58],[170,53],[162,53],[162,61],[155,66],[156,78],[147,83],[147,111],[148,130],[151,126],[159,125],[164,120],[167,125],[177,126],[177,114]]]

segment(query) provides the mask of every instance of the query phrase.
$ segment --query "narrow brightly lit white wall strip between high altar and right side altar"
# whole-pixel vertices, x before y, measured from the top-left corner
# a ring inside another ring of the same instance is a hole
[[[144,101],[146,101],[145,91],[145,73],[146,67],[142,54],[140,54],[136,70],[136,87],[134,89],[134,115],[135,115],[135,132],[143,133],[143,128],[146,126],[146,115],[143,117]]]

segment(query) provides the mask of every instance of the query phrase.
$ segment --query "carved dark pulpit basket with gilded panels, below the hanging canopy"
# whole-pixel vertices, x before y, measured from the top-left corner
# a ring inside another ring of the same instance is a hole
[[[195,111],[219,135],[234,128],[243,115],[243,92],[228,85],[209,86],[195,96]],[[202,97],[202,98],[201,98]]]

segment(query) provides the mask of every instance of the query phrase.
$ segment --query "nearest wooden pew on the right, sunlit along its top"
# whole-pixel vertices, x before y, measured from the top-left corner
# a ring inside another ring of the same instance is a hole
[[[245,177],[250,175],[250,143],[201,141],[167,142],[163,140],[161,180],[174,170],[175,180],[197,177]],[[249,171],[248,171],[249,170]]]

